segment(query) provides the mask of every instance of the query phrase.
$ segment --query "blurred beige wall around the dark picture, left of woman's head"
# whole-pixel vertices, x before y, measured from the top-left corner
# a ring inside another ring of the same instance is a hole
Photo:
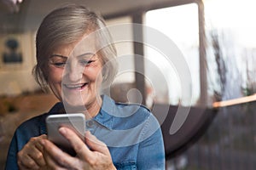
[[[34,35],[33,31],[27,31],[0,36],[0,95],[17,95],[32,92],[38,88],[32,77],[32,68],[36,62]],[[8,52],[4,43],[9,37],[15,37],[20,42],[17,53],[22,54],[22,63],[3,63],[3,53]]]

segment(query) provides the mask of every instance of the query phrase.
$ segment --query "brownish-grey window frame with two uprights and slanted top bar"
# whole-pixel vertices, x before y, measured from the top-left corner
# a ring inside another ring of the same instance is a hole
[[[143,24],[143,17],[146,12],[149,10],[159,9],[159,8],[169,8],[180,6],[189,3],[196,3],[198,6],[198,23],[199,23],[199,59],[200,59],[200,89],[201,94],[199,97],[199,101],[197,105],[200,106],[209,106],[208,105],[208,95],[207,95],[207,66],[206,66],[206,39],[205,39],[205,26],[204,26],[204,5],[201,0],[174,0],[172,2],[166,3],[155,3],[148,6],[143,6],[140,8],[135,8],[131,10],[126,10],[120,13],[115,14],[107,14],[104,15],[104,19],[110,20],[114,18],[130,16],[133,23]],[[141,37],[137,37],[141,39],[143,42],[143,30],[133,29],[133,37],[141,35]],[[143,56],[144,49],[143,45],[138,42],[133,42],[133,50],[134,54],[139,54]],[[136,88],[141,92],[143,96],[142,104],[145,105],[145,99],[147,98],[146,88],[145,88],[145,79],[143,77],[144,74],[144,60],[143,59],[134,59],[135,69],[139,69],[140,74],[135,73],[135,83]]]

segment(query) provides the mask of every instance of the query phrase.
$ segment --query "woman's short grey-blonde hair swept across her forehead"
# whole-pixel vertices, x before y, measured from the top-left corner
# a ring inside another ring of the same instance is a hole
[[[106,86],[113,82],[118,69],[116,49],[104,20],[89,8],[68,4],[49,13],[38,28],[36,37],[37,65],[33,69],[33,75],[41,88],[47,87],[49,83],[48,59],[54,49],[76,42],[90,31],[96,31],[97,46],[102,47],[101,43],[108,44],[99,49],[97,54],[101,57],[104,66],[103,83]]]

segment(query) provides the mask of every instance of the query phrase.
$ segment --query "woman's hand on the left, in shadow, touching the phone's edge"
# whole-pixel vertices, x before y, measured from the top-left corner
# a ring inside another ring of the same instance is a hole
[[[18,152],[17,161],[19,169],[40,169],[44,167],[43,145],[41,140],[47,139],[45,134],[30,139]]]

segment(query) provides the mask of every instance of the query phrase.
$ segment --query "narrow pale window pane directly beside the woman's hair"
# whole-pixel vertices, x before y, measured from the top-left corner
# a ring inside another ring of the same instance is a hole
[[[127,25],[131,22],[130,16],[106,20],[108,29],[113,37],[113,43],[117,49],[119,72],[111,88],[104,90],[103,93],[110,95],[119,102],[132,102],[135,100],[129,98],[129,92],[135,88],[133,31],[132,26]]]

